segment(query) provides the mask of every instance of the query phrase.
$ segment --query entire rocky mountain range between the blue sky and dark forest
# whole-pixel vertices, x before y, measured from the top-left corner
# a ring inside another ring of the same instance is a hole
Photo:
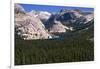
[[[94,14],[80,10],[61,9],[58,13],[47,11],[26,12],[15,4],[15,34],[25,40],[52,39],[54,33],[68,33],[86,28],[94,20]],[[59,38],[59,37],[57,37]]]

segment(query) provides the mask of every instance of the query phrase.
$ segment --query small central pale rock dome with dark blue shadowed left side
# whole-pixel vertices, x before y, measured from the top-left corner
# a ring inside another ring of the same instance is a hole
[[[51,15],[51,17],[45,23],[46,28],[50,33],[63,33],[70,30],[67,26],[64,26],[61,21],[57,20],[58,15]]]

